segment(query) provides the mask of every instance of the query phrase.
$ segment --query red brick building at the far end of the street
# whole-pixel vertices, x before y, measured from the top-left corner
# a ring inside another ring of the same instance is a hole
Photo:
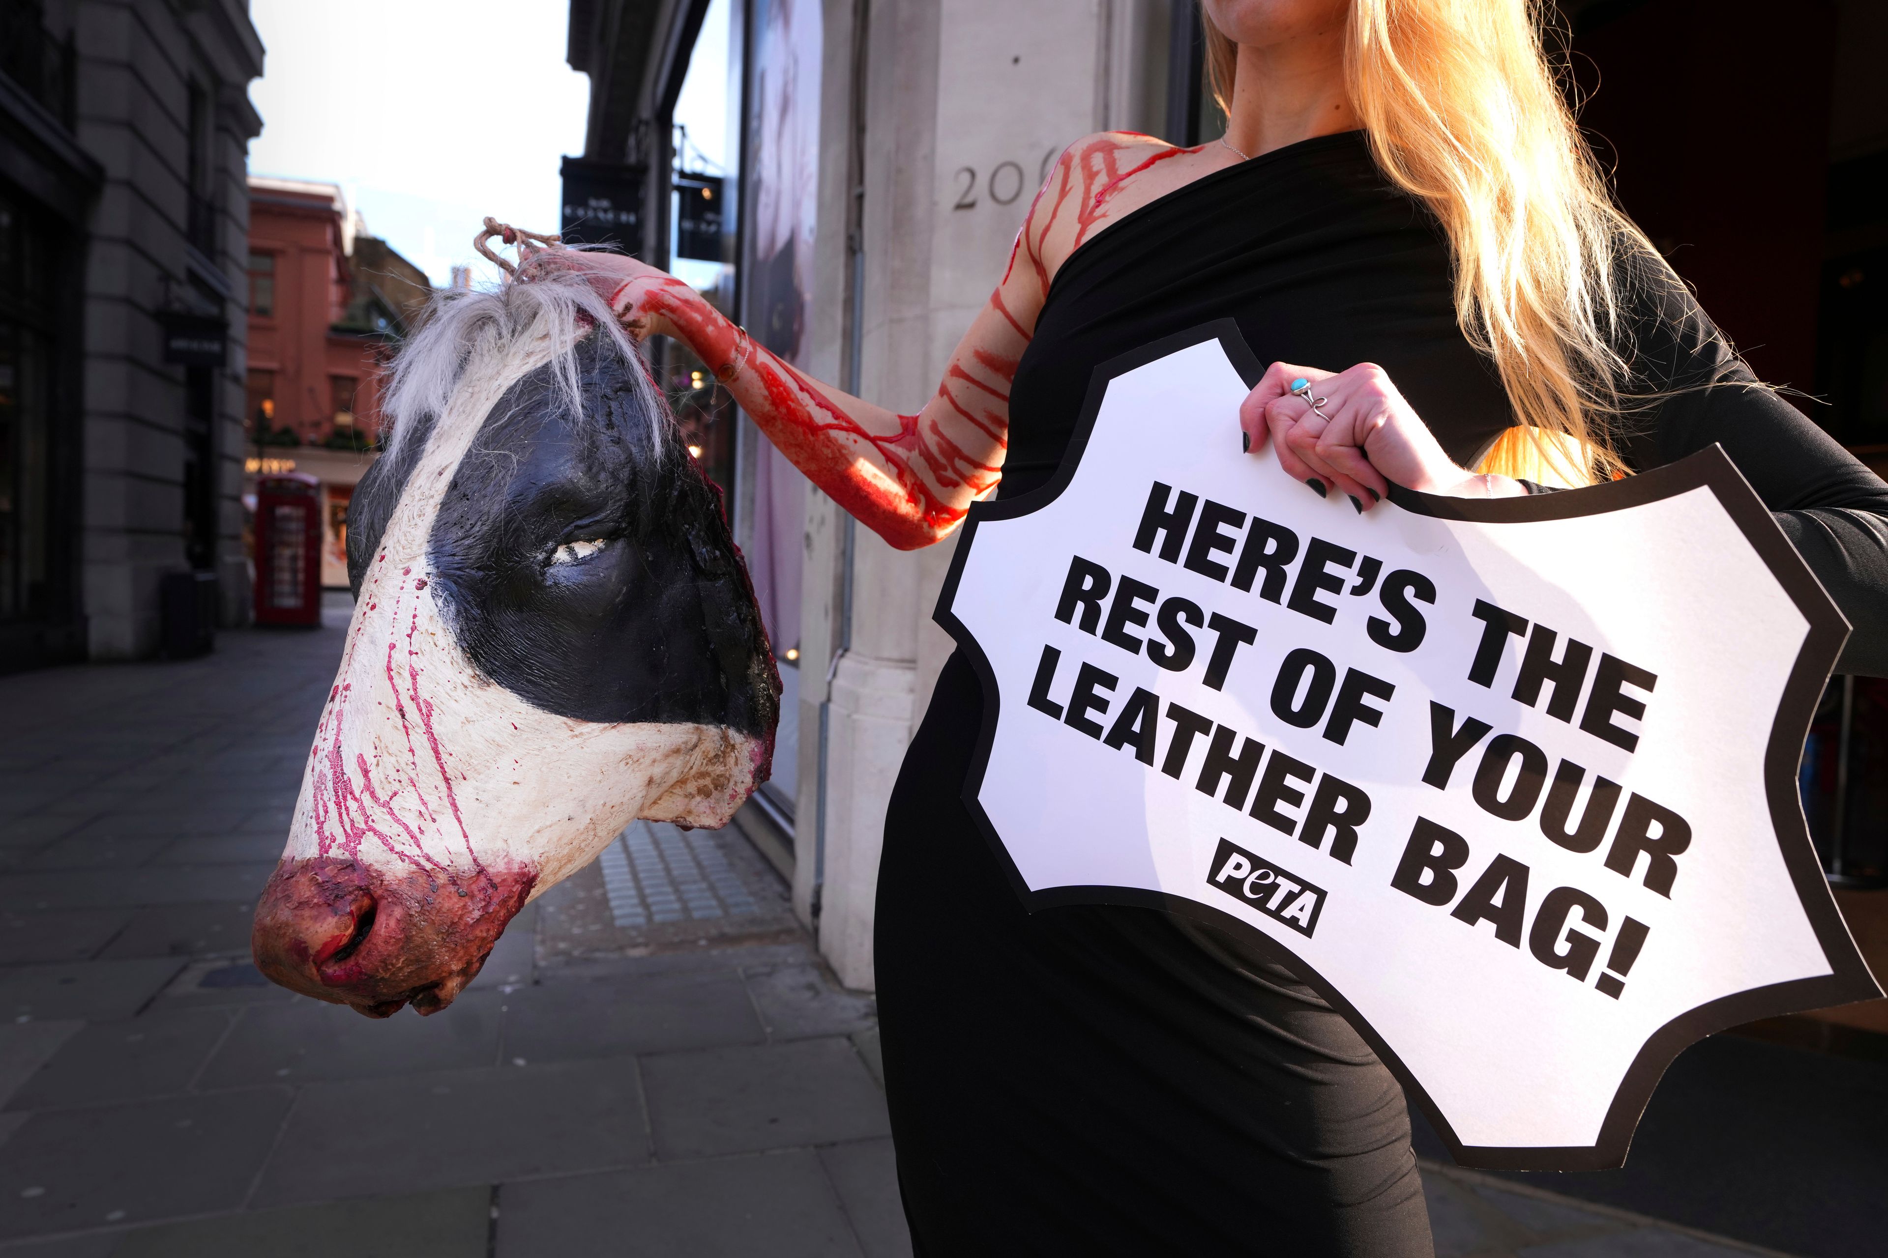
[[[321,583],[347,585],[347,502],[379,441],[395,338],[432,296],[425,272],[362,230],[332,183],[249,179],[245,490],[321,481]]]

